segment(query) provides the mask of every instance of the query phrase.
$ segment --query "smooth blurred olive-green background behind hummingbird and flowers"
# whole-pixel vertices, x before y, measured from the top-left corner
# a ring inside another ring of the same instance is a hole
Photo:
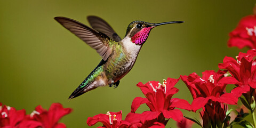
[[[131,110],[135,97],[144,97],[137,83],[179,78],[205,70],[218,70],[236,47],[227,47],[228,34],[238,21],[252,14],[255,1],[0,1],[0,102],[30,114],[36,106],[53,102],[73,108],[61,119],[67,127],[88,127],[86,119],[107,111]],[[134,20],[182,24],[153,29],[135,66],[117,89],[100,87],[78,98],[69,95],[98,65],[101,57],[53,18],[68,17],[89,25],[87,15],[97,15],[124,37]],[[192,98],[186,85],[174,97]],[[231,106],[232,107],[232,106]],[[235,107],[234,107],[235,108]],[[142,105],[138,113],[148,110]],[[185,116],[198,113],[184,111]],[[95,126],[101,126],[97,124]],[[176,127],[170,120],[168,127]],[[197,127],[197,125],[194,125]]]

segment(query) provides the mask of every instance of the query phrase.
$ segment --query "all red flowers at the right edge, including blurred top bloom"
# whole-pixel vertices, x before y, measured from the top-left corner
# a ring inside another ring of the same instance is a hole
[[[256,12],[255,10],[254,7],[254,12]],[[219,70],[217,73],[206,70],[202,78],[196,73],[181,76],[194,99],[191,109],[196,111],[203,108],[200,112],[203,125],[194,119],[189,119],[202,127],[232,127],[235,124],[255,127],[256,125],[254,116],[256,106],[254,99],[256,96],[256,15],[243,18],[229,35],[228,46],[237,46],[239,49],[249,47],[252,50],[247,53],[239,53],[236,59],[225,57],[223,63],[219,63],[219,68],[226,70]],[[233,84],[236,87],[227,93],[227,84]],[[230,119],[231,110],[228,110],[226,104],[235,105],[238,98],[247,109],[251,110],[254,126],[244,120],[244,117],[248,115],[244,113],[244,109],[235,110],[236,118]]]

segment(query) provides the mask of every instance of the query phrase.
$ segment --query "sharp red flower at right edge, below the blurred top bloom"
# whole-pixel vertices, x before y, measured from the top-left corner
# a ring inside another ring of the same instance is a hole
[[[249,50],[247,53],[240,52],[237,60],[231,57],[225,57],[223,63],[219,63],[220,69],[227,69],[229,73],[237,79],[239,83],[232,90],[232,93],[239,97],[242,93],[251,104],[252,96],[255,98],[256,89],[256,61],[253,59],[256,56],[256,50]]]

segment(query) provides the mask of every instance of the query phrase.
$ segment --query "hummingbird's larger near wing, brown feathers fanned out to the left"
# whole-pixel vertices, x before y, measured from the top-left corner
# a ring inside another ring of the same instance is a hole
[[[110,38],[107,35],[73,19],[65,17],[55,17],[54,19],[57,20],[63,27],[71,31],[71,33],[82,39],[86,44],[95,49],[103,60],[108,59],[112,50],[108,45]]]

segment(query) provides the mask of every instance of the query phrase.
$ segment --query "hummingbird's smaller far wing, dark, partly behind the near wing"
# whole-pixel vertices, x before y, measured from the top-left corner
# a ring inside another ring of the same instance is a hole
[[[121,38],[116,34],[113,28],[103,19],[96,16],[87,17],[90,25],[93,29],[100,31],[103,34],[106,34],[108,37],[113,39],[116,42],[121,41]]]

